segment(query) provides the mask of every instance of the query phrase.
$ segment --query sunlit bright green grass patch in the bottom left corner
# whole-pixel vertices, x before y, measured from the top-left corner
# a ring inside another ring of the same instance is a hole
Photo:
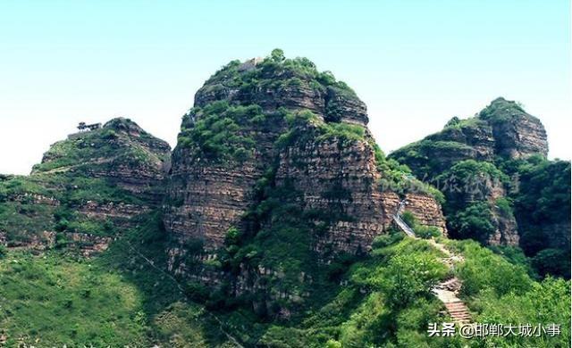
[[[145,342],[141,294],[117,273],[57,254],[10,253],[0,261],[0,327],[7,344]]]

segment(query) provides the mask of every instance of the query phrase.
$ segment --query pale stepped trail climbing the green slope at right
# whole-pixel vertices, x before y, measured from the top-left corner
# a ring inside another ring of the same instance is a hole
[[[405,200],[400,202],[397,211],[393,215],[393,220],[406,235],[414,239],[419,239],[419,237],[415,235],[415,231],[410,228],[403,219],[401,219],[400,214],[405,208],[405,204]],[[446,257],[440,259],[440,261],[442,261],[449,269],[453,269],[456,263],[465,261],[462,256],[451,253],[444,244],[435,241],[433,238],[428,239],[427,241],[437,250],[446,255]],[[443,302],[445,308],[449,312],[450,318],[453,319],[453,321],[460,324],[466,324],[471,321],[471,313],[468,311],[467,304],[458,298],[458,292],[461,286],[463,286],[462,281],[457,277],[453,277],[445,279],[441,283],[433,286],[431,292],[437,296],[441,302]]]

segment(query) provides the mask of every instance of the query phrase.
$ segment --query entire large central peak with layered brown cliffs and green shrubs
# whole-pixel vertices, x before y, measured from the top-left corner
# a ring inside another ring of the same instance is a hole
[[[170,269],[299,302],[324,277],[312,275],[318,263],[366,253],[404,198],[420,224],[446,233],[441,205],[406,188],[416,180],[384,158],[367,121],[357,95],[305,58],[274,52],[216,72],[172,153]]]

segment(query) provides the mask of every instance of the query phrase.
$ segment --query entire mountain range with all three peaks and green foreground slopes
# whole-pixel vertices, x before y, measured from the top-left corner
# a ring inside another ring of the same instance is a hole
[[[276,49],[207,79],[172,152],[81,123],[0,176],[0,346],[567,346],[569,162],[485,111],[385,156],[349,86]]]

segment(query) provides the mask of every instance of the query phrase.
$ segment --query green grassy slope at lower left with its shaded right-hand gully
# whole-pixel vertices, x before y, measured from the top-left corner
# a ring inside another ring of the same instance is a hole
[[[0,336],[7,336],[6,346],[233,346],[214,316],[188,302],[163,272],[158,217],[141,222],[90,260],[4,253]]]

